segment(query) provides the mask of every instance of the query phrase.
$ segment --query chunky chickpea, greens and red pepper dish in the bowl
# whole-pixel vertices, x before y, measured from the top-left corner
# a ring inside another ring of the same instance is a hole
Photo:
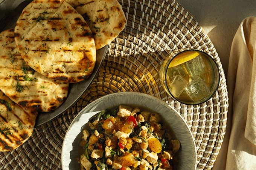
[[[174,170],[180,141],[160,114],[119,105],[88,122],[78,158],[85,170]]]

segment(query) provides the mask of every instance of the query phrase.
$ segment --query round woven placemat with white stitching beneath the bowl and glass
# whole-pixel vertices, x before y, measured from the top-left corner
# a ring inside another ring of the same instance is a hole
[[[61,147],[74,117],[90,102],[116,92],[142,92],[173,106],[189,125],[197,148],[197,169],[213,167],[224,138],[228,97],[218,54],[199,23],[174,0],[119,0],[127,25],[108,45],[98,76],[81,99],[57,119],[35,129],[12,152],[0,153],[0,170],[61,169]],[[178,48],[203,50],[215,59],[221,80],[213,98],[189,106],[174,101],[159,81],[166,54]]]

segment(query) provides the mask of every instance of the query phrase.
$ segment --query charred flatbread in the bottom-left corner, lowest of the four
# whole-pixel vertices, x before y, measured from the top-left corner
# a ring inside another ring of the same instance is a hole
[[[17,105],[0,91],[0,152],[23,144],[32,135],[36,118],[37,111]]]

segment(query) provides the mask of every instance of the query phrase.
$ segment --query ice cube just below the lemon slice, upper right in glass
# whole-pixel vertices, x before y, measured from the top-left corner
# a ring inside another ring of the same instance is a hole
[[[193,79],[204,73],[205,64],[201,55],[183,63],[183,66],[186,69],[187,74]]]

